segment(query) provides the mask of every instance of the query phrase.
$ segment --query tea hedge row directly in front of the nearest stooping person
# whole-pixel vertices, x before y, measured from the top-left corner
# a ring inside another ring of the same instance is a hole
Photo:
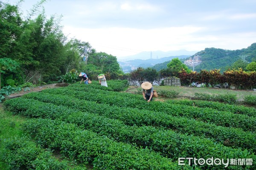
[[[202,109],[191,106],[167,105],[163,102],[152,102],[150,104],[146,104],[141,95],[134,97],[132,94],[129,95],[121,93],[121,95],[117,95],[116,92],[113,91],[93,89],[90,85],[81,86],[80,84],[74,84],[65,89],[49,89],[47,91],[42,91],[42,93],[44,92],[73,96],[79,99],[105,103],[111,106],[116,105],[119,107],[144,109],[146,111],[158,111],[172,116],[184,116],[187,118],[193,117],[197,120],[212,122],[224,127],[240,127],[244,130],[255,130],[255,126],[253,125],[254,119],[250,119],[245,115],[235,115],[230,112],[215,111],[208,108]],[[108,98],[105,96],[108,96]],[[216,116],[216,114],[218,116]]]

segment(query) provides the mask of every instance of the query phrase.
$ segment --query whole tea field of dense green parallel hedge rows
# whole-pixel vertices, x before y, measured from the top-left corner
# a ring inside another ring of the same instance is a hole
[[[26,94],[4,105],[14,114],[33,118],[23,130],[35,142],[94,169],[221,170],[223,165],[177,162],[180,157],[256,160],[254,110],[228,105],[226,111],[214,102],[148,103],[142,95],[117,89],[122,88],[76,83]],[[252,168],[254,164],[225,169]]]

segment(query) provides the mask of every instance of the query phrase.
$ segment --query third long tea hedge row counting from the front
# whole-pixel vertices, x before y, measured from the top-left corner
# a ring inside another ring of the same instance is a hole
[[[47,93],[30,93],[23,98],[36,99],[42,102],[53,103],[55,105],[63,105],[73,109],[83,111],[86,108],[88,113],[97,113],[111,119],[119,119],[126,125],[150,125],[157,127],[165,127],[165,129],[176,130],[180,133],[189,133],[195,136],[211,138],[215,142],[224,143],[229,139],[229,145],[243,147],[247,149],[255,149],[253,146],[256,141],[255,133],[245,132],[237,128],[228,128],[216,126],[194,119],[188,119],[179,116],[170,116],[162,112],[145,111],[137,108],[120,108],[107,104],[98,104],[95,102],[76,99],[70,96],[47,94]],[[26,109],[30,102],[20,100],[20,102],[12,101],[12,106],[9,109],[15,112]],[[9,102],[6,105],[11,105]],[[33,110],[33,109],[32,109]]]

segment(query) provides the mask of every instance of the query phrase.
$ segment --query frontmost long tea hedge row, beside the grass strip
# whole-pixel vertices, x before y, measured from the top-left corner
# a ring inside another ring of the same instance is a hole
[[[75,124],[49,119],[26,122],[24,130],[42,145],[61,150],[63,155],[79,162],[91,163],[97,169],[183,169],[149,149],[138,149],[115,142]],[[104,146],[104,147],[102,147]],[[187,167],[186,169],[192,169]]]

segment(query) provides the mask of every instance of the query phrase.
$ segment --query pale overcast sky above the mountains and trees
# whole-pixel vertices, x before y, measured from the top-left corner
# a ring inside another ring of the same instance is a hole
[[[16,4],[18,0],[5,0]],[[36,0],[24,0],[21,10]],[[256,0],[48,0],[66,36],[122,59],[141,51],[236,50],[256,42]]]

